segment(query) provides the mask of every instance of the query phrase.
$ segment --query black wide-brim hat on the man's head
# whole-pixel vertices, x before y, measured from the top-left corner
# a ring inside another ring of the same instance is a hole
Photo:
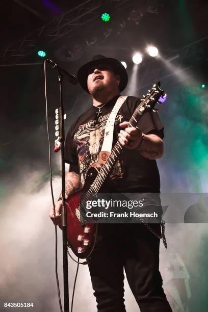
[[[125,89],[125,87],[128,83],[128,75],[127,75],[125,67],[123,66],[123,64],[119,60],[116,60],[113,58],[106,58],[103,55],[95,55],[92,58],[92,61],[84,64],[77,71],[77,79],[78,79],[81,87],[89,93],[88,87],[87,87],[88,70],[92,66],[96,66],[99,64],[108,64],[112,67],[113,72],[115,74],[119,75],[121,78],[121,81],[119,84],[119,90],[120,90],[120,92],[123,91],[123,89]]]

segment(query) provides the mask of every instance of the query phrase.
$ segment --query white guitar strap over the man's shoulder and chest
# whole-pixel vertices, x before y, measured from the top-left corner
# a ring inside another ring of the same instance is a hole
[[[105,134],[104,134],[104,140],[102,143],[101,151],[110,152],[112,150],[112,143],[113,143],[113,130],[114,130],[114,124],[116,120],[116,116],[118,114],[119,109],[121,108],[123,102],[125,101],[127,96],[119,96],[117,99],[114,108],[111,111],[111,114],[107,120],[106,128],[105,128]]]

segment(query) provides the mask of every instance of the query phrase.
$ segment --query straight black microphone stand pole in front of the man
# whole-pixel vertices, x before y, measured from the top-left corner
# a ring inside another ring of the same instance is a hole
[[[63,241],[63,276],[64,276],[64,312],[69,312],[69,284],[68,284],[68,254],[67,254],[67,214],[66,214],[66,199],[65,199],[65,159],[64,159],[64,108],[63,108],[63,91],[62,91],[63,76],[59,73],[59,93],[60,93],[60,115],[59,120],[61,125],[61,177],[62,177],[62,241]]]

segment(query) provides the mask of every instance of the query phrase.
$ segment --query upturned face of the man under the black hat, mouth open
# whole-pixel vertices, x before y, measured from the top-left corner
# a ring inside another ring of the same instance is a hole
[[[92,95],[96,93],[115,92],[120,83],[120,76],[113,72],[113,69],[108,64],[99,64],[92,66],[88,71],[87,86]]]

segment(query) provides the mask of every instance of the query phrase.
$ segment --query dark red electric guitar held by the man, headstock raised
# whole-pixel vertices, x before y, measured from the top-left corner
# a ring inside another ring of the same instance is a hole
[[[144,113],[153,110],[155,104],[158,101],[163,102],[165,98],[166,94],[160,87],[160,82],[154,84],[152,89],[148,90],[148,93],[141,99],[139,106],[128,121],[128,126],[136,126]],[[68,246],[79,258],[90,257],[96,243],[98,226],[97,223],[85,221],[85,209],[83,207],[86,206],[87,200],[96,197],[121,152],[122,146],[117,141],[111,153],[104,152],[102,155],[101,159],[104,161],[100,170],[90,167],[87,171],[84,187],[72,193],[66,200]],[[84,198],[83,194],[85,194]]]

